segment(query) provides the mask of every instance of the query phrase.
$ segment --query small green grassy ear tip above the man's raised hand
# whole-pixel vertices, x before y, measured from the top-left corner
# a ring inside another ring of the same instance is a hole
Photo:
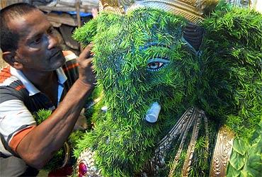
[[[88,45],[96,35],[97,24],[97,19],[94,18],[88,23],[85,23],[81,28],[76,28],[73,33],[74,40],[81,42],[85,46]]]

